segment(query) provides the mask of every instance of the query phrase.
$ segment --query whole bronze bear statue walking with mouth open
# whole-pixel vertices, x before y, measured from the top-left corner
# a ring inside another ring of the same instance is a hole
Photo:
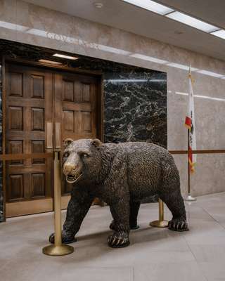
[[[172,212],[169,229],[188,230],[179,171],[172,155],[153,143],[101,143],[98,139],[65,140],[63,173],[73,184],[63,225],[62,242],[75,242],[95,197],[113,216],[110,247],[129,245],[130,229],[138,228],[141,200],[158,195]],[[54,234],[49,237],[54,242]]]

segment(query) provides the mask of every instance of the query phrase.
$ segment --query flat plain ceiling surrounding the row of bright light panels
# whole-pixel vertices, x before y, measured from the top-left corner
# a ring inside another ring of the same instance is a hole
[[[121,0],[26,1],[225,60],[224,39]],[[96,1],[103,3],[103,8],[95,8]],[[158,2],[225,29],[224,0],[158,0]]]

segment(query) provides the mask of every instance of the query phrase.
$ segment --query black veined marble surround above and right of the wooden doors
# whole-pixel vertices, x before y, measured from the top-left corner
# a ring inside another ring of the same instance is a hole
[[[68,67],[101,71],[103,73],[105,142],[147,141],[167,148],[167,76],[165,72],[77,54],[75,56],[79,58],[78,60],[65,60],[53,57],[53,53],[56,51],[49,48],[0,39],[0,55],[30,61],[57,60]],[[0,211],[3,210],[1,186]]]

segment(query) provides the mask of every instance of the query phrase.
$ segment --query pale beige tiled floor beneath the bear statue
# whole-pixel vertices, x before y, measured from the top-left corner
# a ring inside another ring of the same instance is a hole
[[[131,245],[110,249],[110,211],[92,207],[72,244],[75,252],[58,257],[41,253],[53,214],[12,218],[0,224],[0,280],[225,281],[225,192],[198,197],[186,211],[190,231],[176,233],[149,227],[158,204],[143,204]]]

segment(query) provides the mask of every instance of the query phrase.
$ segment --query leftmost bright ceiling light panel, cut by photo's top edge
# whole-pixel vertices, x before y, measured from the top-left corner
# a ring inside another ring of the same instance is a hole
[[[123,1],[144,8],[148,11],[159,13],[160,15],[166,15],[167,13],[171,13],[172,11],[174,11],[172,8],[169,8],[162,4],[158,4],[155,1],[151,1],[151,0],[123,0]]]

